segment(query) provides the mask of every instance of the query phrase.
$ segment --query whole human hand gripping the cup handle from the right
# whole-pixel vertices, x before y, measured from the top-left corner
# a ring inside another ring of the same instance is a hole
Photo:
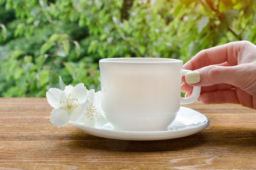
[[[200,74],[200,82],[185,82],[182,77],[182,91],[187,96],[192,86],[202,86],[198,100],[204,104],[234,103],[256,109],[256,46],[251,42],[202,50],[183,69]]]

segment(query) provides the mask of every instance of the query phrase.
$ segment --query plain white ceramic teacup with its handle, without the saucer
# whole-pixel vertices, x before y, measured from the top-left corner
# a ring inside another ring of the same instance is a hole
[[[195,102],[201,87],[180,97],[182,60],[105,58],[99,61],[101,107],[115,130],[162,131],[174,121],[180,104]]]

